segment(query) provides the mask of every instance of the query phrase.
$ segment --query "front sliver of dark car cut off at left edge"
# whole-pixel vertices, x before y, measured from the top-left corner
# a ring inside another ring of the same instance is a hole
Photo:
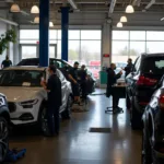
[[[2,163],[7,156],[9,149],[9,128],[10,115],[5,96],[0,94],[0,163]]]

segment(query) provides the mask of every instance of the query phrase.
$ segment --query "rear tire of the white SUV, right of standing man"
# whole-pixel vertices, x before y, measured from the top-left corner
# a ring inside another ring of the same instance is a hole
[[[61,117],[63,119],[70,119],[71,118],[71,106],[72,106],[72,97],[69,96],[67,101],[67,107],[66,109],[61,113]]]

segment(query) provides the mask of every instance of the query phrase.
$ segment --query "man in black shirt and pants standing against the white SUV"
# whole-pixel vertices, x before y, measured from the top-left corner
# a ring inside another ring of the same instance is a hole
[[[60,79],[56,74],[56,67],[49,66],[48,68],[49,79],[48,82],[42,81],[42,85],[48,93],[48,127],[50,131],[50,136],[59,134],[59,109],[61,106],[62,97],[61,97],[61,82]]]

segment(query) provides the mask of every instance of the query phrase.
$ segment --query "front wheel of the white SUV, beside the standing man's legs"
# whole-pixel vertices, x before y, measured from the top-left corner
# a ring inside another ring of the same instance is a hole
[[[43,105],[40,107],[40,112],[39,112],[39,129],[44,134],[48,134],[49,133],[49,129],[48,129],[48,120],[47,120],[47,108],[46,105]]]

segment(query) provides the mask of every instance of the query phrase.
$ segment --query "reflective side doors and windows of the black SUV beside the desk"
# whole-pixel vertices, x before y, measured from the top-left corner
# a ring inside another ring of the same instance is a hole
[[[126,78],[126,83],[127,83],[126,90],[130,99],[132,98],[134,92],[136,81],[137,81],[136,78],[139,74],[140,63],[141,63],[141,57],[137,58],[131,72]]]

